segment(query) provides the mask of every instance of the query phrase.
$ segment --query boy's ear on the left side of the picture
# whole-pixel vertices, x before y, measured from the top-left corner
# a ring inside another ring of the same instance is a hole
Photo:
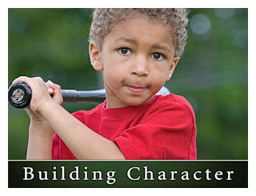
[[[94,41],[89,44],[90,63],[94,70],[103,70],[101,50]]]

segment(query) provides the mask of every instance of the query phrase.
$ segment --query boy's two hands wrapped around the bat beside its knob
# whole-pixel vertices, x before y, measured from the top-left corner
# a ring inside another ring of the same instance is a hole
[[[26,112],[30,116],[30,119],[32,118],[37,121],[42,120],[40,108],[46,102],[56,102],[59,105],[62,105],[63,99],[61,87],[53,82],[43,82],[40,77],[28,78],[26,76],[16,78],[13,83],[16,82],[26,82],[32,91],[30,106],[26,108]],[[52,98],[50,97],[50,94],[53,95]]]

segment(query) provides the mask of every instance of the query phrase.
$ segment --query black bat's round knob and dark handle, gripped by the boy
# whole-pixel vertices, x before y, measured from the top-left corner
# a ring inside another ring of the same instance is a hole
[[[11,106],[25,108],[30,105],[32,92],[25,82],[17,82],[8,90],[8,100]],[[106,92],[102,90],[62,90],[63,102],[88,102],[100,104],[106,98]]]

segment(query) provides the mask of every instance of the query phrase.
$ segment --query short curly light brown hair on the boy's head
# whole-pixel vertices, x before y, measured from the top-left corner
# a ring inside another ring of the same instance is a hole
[[[116,22],[131,14],[146,14],[150,19],[170,26],[174,41],[175,57],[180,57],[186,45],[188,10],[185,8],[96,8],[90,26],[89,42],[94,41],[102,48],[103,39]]]

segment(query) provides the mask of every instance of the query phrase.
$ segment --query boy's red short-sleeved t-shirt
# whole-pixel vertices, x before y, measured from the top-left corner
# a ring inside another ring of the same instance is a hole
[[[141,106],[105,108],[73,115],[91,130],[115,142],[126,159],[196,159],[194,111],[182,96],[154,95]],[[70,130],[72,131],[72,130]],[[76,159],[58,134],[53,159]]]

